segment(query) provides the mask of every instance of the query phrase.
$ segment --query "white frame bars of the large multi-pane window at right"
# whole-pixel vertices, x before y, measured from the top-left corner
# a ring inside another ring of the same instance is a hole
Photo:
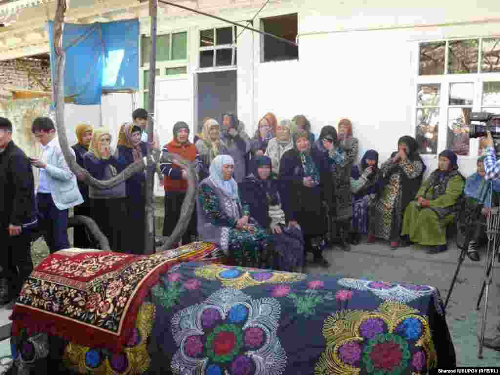
[[[482,108],[492,108],[494,106],[483,106],[482,105],[482,93],[483,93],[483,83],[487,81],[498,81],[500,82],[500,72],[483,72],[481,71],[481,59],[482,59],[482,40],[489,38],[500,38],[500,35],[483,35],[483,36],[467,36],[467,37],[454,37],[454,38],[440,38],[440,39],[428,39],[428,40],[418,40],[414,42],[414,55],[415,61],[413,74],[414,74],[414,84],[412,85],[412,112],[411,112],[411,131],[412,134],[416,134],[416,116],[417,110],[422,106],[417,105],[417,90],[420,84],[440,84],[439,90],[439,127],[437,132],[437,150],[436,153],[422,154],[424,158],[435,158],[440,151],[447,148],[447,129],[448,129],[448,109],[453,107],[470,107],[472,112],[481,111]],[[467,40],[467,39],[479,39],[478,45],[478,67],[476,73],[449,73],[448,72],[448,49],[449,41],[454,40]],[[420,43],[445,41],[445,57],[444,57],[444,73],[443,74],[419,74],[420,68]],[[473,93],[472,93],[472,105],[449,105],[449,91],[451,83],[473,83]],[[500,105],[497,107],[500,111]],[[464,159],[476,159],[479,147],[478,139],[470,139],[469,141],[469,153],[468,155],[458,155],[459,158]]]

